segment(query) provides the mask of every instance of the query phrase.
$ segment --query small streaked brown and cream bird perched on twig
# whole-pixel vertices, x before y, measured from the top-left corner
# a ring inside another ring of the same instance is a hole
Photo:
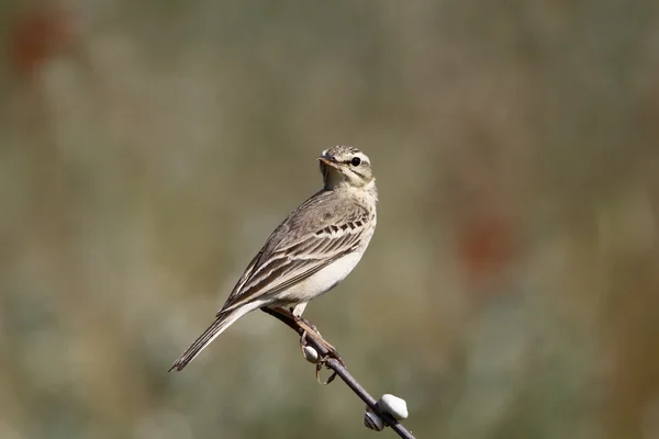
[[[220,334],[255,309],[289,309],[301,319],[310,301],[339,284],[357,266],[377,225],[378,190],[370,159],[353,146],[337,145],[323,150],[319,162],[323,189],[270,234],[215,320],[169,371],[183,370]]]

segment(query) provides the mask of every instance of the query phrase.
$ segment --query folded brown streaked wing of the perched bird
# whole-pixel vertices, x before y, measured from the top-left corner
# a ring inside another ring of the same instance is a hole
[[[369,213],[358,204],[344,204],[337,223],[339,201],[332,192],[319,192],[291,213],[252,260],[220,313],[283,291],[355,251]]]

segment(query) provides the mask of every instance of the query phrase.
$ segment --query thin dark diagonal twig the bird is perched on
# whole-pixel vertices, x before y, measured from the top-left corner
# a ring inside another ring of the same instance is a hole
[[[295,319],[290,314],[280,313],[277,309],[271,308],[261,308],[261,311],[282,322],[288,327],[298,333],[300,336],[304,334],[304,329],[298,324],[298,322],[295,322]],[[330,351],[315,338],[306,335],[305,341],[309,346],[312,346],[319,352],[320,358],[327,358],[330,356]],[[380,419],[382,419],[384,425],[391,427],[391,429],[395,431],[401,438],[415,439],[414,436],[393,416],[386,412],[382,412],[380,407],[378,407],[378,402],[376,401],[376,398],[373,398],[366,391],[366,389],[364,389],[361,384],[359,384],[357,380],[355,380],[355,378],[350,374],[350,372],[348,372],[347,368],[340,363],[340,361],[330,357],[325,361],[325,365],[328,369],[332,369],[334,372],[336,372],[336,374],[340,376],[340,379],[348,385],[348,387],[350,387],[350,390],[353,390],[353,392],[355,392],[355,394],[359,396],[361,401],[364,401],[366,405],[368,405],[371,408],[371,410],[373,410],[373,413],[380,417]]]

